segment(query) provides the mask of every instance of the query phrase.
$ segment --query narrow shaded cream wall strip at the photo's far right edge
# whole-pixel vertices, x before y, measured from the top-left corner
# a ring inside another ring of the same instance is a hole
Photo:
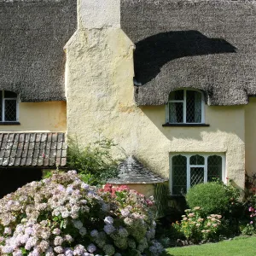
[[[245,107],[246,171],[249,176],[256,173],[256,98],[250,98]]]

